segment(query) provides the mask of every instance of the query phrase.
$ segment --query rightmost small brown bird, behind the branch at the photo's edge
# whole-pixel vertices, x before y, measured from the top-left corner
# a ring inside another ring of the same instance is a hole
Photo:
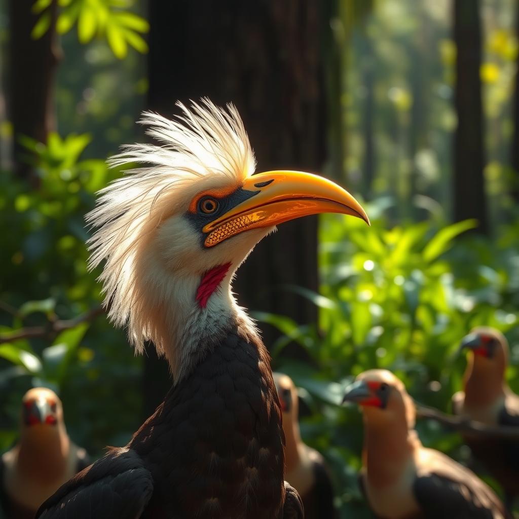
[[[469,349],[463,391],[452,398],[453,413],[486,425],[519,427],[519,396],[505,379],[509,346],[498,330],[481,326],[461,340],[460,350]],[[482,438],[463,433],[463,440],[496,478],[511,508],[519,494],[519,441]]]

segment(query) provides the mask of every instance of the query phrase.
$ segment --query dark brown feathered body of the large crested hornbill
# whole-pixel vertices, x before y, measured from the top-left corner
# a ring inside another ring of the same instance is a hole
[[[39,516],[278,519],[283,463],[268,353],[231,331],[170,390],[126,448],[65,484]]]

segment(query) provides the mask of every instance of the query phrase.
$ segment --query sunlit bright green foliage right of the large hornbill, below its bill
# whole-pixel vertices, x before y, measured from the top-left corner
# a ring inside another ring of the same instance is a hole
[[[357,409],[339,403],[352,377],[372,368],[400,376],[421,403],[449,412],[460,389],[465,359],[460,339],[476,325],[502,330],[519,340],[517,226],[493,242],[456,237],[475,222],[441,225],[425,221],[388,229],[391,201],[370,204],[372,226],[326,215],[321,219],[321,294],[296,289],[320,309],[320,323],[297,325],[289,318],[258,313],[284,336],[272,348],[274,366],[291,375],[308,406],[302,430],[334,469],[345,517],[363,517],[356,485],[362,426]],[[295,341],[310,365],[283,357]],[[512,350],[508,377],[519,390]],[[457,434],[434,422],[419,423],[422,441],[467,461]],[[491,482],[495,484],[494,482]]]

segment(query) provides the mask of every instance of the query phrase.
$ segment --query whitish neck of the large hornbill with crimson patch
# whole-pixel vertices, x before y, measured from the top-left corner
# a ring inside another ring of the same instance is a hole
[[[153,338],[168,359],[174,383],[194,370],[238,321],[256,336],[252,320],[231,294],[234,270],[217,265],[199,275],[178,275],[155,302]]]

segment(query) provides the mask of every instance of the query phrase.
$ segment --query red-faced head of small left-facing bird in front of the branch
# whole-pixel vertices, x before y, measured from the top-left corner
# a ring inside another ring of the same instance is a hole
[[[370,425],[384,427],[390,422],[415,425],[415,405],[402,381],[387,370],[368,370],[361,373],[346,388],[343,402],[355,402],[363,408]]]

